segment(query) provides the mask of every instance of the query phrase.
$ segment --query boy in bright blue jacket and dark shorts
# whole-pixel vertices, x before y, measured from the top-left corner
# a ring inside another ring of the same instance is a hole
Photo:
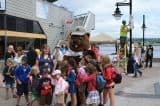
[[[19,102],[23,94],[25,95],[27,106],[29,106],[29,98],[28,98],[29,72],[30,72],[30,66],[27,64],[27,57],[23,56],[21,64],[17,66],[15,70],[15,77],[17,81],[17,105],[16,106],[19,106]]]

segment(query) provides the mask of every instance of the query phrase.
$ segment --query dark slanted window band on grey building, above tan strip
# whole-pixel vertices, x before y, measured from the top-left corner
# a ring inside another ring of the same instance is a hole
[[[5,15],[0,14],[0,29],[4,29]],[[6,27],[10,31],[44,34],[38,21],[6,15]]]

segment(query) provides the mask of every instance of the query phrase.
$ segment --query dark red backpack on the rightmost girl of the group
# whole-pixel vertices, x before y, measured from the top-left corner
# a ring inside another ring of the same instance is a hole
[[[120,84],[122,82],[122,74],[119,72],[119,70],[116,67],[112,67],[113,74],[112,78],[115,84]]]

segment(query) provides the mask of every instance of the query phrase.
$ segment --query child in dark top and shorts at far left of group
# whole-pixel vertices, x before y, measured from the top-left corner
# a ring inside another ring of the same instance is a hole
[[[13,98],[16,97],[14,94],[14,83],[15,83],[15,77],[14,77],[14,71],[15,71],[15,62],[13,61],[12,58],[8,58],[6,61],[6,66],[4,67],[3,70],[3,76],[4,76],[4,82],[6,86],[6,100],[9,99],[9,88],[11,88],[11,92],[13,95]]]

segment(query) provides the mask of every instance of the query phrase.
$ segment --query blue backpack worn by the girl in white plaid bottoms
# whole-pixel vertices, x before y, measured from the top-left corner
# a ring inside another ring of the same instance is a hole
[[[106,86],[106,80],[104,79],[103,75],[98,74],[96,76],[96,88],[99,92],[102,92]]]

